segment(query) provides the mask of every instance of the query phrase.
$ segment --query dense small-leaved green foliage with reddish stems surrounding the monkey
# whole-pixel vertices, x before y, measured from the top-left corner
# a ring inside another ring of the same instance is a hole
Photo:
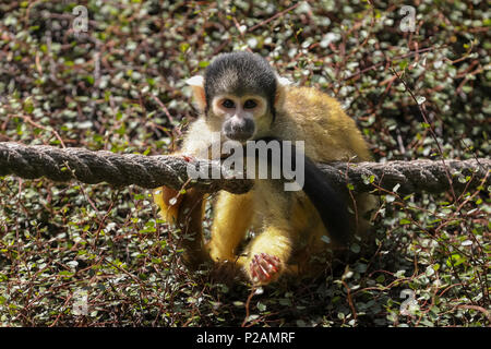
[[[417,1],[409,32],[404,5],[2,2],[0,141],[169,152],[196,116],[183,80],[217,52],[250,49],[337,97],[380,161],[489,156],[486,2]],[[489,188],[395,188],[381,200],[375,252],[313,282],[251,290],[183,268],[182,237],[147,191],[0,180],[2,325],[490,325]]]

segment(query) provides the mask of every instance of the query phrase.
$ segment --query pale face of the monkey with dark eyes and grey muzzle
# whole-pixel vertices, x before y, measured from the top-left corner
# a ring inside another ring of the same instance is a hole
[[[221,134],[244,143],[252,140],[258,124],[270,118],[267,100],[260,95],[219,95],[212,99],[212,113],[221,123]]]

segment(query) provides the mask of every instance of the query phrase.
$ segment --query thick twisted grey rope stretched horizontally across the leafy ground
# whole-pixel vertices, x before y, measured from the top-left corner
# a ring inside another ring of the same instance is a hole
[[[184,183],[212,193],[226,190],[244,193],[252,188],[247,179],[190,180],[188,166],[209,166],[221,171],[219,163],[195,163],[181,156],[144,156],[115,154],[84,148],[57,148],[52,146],[25,146],[0,143],[0,176],[15,174],[25,179],[46,177],[52,181],[79,180],[84,183],[108,182],[115,186],[136,184],[143,188],[167,185],[179,190]],[[491,159],[470,160],[414,160],[379,163],[320,164],[326,178],[339,188],[358,192],[382,188],[402,194],[428,191],[439,193],[451,188],[471,190],[491,183]],[[446,169],[445,169],[446,168]],[[450,173],[451,180],[447,176]],[[452,181],[452,184],[451,184]],[[381,191],[383,193],[383,191]]]

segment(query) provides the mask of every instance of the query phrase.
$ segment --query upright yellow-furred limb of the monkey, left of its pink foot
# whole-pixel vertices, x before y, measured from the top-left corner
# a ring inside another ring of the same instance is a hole
[[[253,193],[220,192],[214,206],[209,255],[217,262],[233,262],[236,249],[246,236],[253,217]]]

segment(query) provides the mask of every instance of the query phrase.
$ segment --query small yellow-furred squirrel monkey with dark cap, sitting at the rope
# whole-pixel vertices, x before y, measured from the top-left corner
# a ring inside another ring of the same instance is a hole
[[[219,192],[207,242],[202,234],[203,195],[192,189],[184,194],[165,186],[156,190],[163,217],[190,233],[184,261],[233,263],[252,282],[264,285],[288,272],[309,274],[316,255],[339,250],[350,234],[368,229],[363,217],[374,208],[374,197],[355,194],[348,200],[314,164],[372,159],[355,121],[334,98],[290,86],[264,58],[250,52],[217,56],[204,76],[188,84],[201,116],[177,155],[212,159],[214,142],[304,141],[304,185],[285,191],[277,180],[254,179],[246,194]],[[348,213],[347,203],[355,214]],[[249,229],[254,237],[240,249]]]

